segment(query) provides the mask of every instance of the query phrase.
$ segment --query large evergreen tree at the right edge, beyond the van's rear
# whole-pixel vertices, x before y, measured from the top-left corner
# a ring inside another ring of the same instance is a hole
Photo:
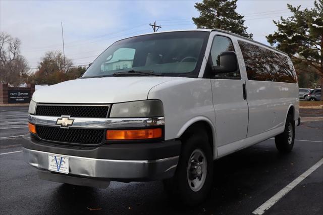
[[[323,0],[315,0],[314,8],[287,5],[293,15],[273,21],[277,26],[267,41],[292,58],[294,64],[306,63],[320,76],[323,87]],[[323,96],[321,96],[321,100]]]

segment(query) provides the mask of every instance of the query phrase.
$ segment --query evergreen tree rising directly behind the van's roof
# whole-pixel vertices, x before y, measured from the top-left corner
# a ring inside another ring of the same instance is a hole
[[[203,0],[194,7],[200,12],[199,17],[192,18],[197,28],[217,28],[252,38],[244,27],[244,16],[235,11],[237,0]]]

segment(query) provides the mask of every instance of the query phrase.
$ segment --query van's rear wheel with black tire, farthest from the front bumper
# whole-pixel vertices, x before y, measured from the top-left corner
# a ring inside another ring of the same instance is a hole
[[[293,149],[295,140],[295,121],[291,115],[287,116],[285,130],[275,137],[278,151],[288,153]]]

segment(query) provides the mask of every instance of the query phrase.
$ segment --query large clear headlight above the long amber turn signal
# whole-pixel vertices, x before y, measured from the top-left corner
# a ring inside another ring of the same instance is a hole
[[[143,100],[112,105],[111,118],[163,117],[164,108],[160,100]]]

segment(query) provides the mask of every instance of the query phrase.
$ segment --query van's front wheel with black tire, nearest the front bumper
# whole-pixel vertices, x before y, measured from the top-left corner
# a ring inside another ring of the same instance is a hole
[[[205,163],[194,163],[194,158],[192,158],[192,155],[198,156],[200,153],[201,156],[198,159],[205,156]],[[194,133],[192,132],[192,135],[185,138],[182,143],[176,173],[173,178],[164,180],[165,190],[171,197],[172,202],[176,202],[177,204],[181,205],[194,206],[201,203],[207,197],[209,191],[211,190],[213,178],[212,154],[212,148],[208,142],[208,136],[205,131],[195,130]],[[204,164],[206,164],[206,174],[203,173]],[[198,169],[200,170],[199,173],[201,175],[198,174]],[[192,170],[195,170],[196,174],[193,174]],[[203,177],[204,182],[202,183],[201,181],[203,181]],[[200,184],[199,187],[196,186],[191,188],[194,183],[189,183],[190,180],[198,180],[195,181],[195,183],[202,183],[202,185]],[[196,190],[193,191],[192,189]]]

